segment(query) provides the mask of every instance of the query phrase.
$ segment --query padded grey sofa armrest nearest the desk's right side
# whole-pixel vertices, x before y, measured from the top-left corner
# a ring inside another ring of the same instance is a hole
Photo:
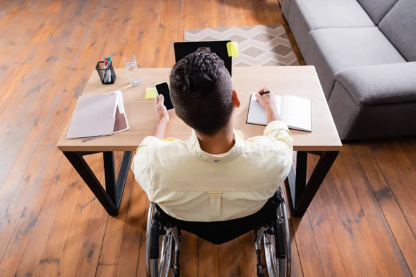
[[[416,101],[416,62],[352,67],[335,78],[358,105]]]

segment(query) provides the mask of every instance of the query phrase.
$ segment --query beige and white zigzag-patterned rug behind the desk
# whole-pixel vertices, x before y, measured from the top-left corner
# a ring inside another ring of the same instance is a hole
[[[185,42],[230,39],[239,43],[233,66],[299,65],[286,30],[281,24],[184,31]]]

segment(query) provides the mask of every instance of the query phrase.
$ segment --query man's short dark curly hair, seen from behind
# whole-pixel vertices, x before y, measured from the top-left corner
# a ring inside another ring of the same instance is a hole
[[[177,116],[201,134],[214,136],[234,110],[232,81],[223,60],[209,49],[198,49],[171,71],[171,100]]]

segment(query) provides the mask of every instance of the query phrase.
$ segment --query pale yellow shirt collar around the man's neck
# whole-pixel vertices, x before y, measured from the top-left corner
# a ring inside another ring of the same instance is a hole
[[[239,157],[243,153],[243,139],[241,138],[239,132],[234,129],[234,146],[224,154],[209,154],[201,149],[198,137],[196,132],[192,130],[191,137],[187,141],[187,148],[189,152],[196,158],[202,159],[207,163],[226,163],[227,161],[232,161]]]

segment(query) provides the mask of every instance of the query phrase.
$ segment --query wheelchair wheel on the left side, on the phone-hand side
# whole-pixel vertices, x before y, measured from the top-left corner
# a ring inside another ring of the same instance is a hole
[[[150,203],[146,226],[146,274],[148,277],[168,276],[174,249],[175,241],[171,229],[160,227],[155,219],[155,204]],[[154,257],[156,251],[158,256]]]

